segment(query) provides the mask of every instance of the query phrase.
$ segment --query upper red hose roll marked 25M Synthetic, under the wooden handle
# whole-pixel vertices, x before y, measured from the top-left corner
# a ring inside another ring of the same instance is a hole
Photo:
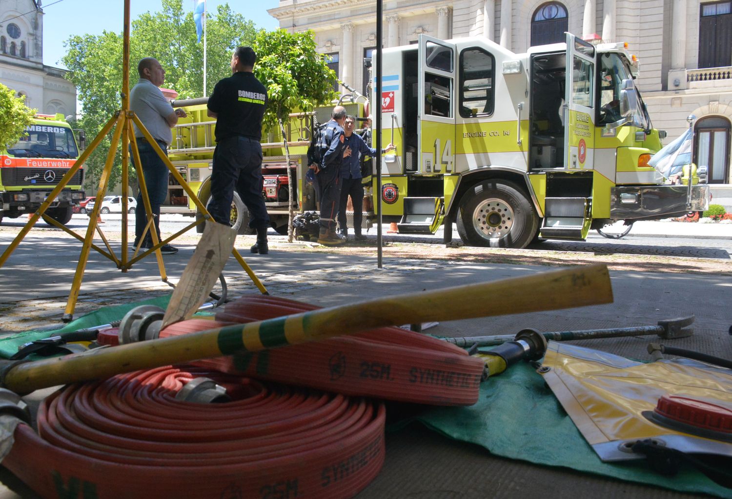
[[[246,295],[217,320],[246,323],[317,309],[299,301]],[[210,320],[173,324],[160,337],[211,329]],[[431,405],[472,405],[485,362],[462,348],[395,327],[348,337],[197,361],[195,365],[340,394]]]

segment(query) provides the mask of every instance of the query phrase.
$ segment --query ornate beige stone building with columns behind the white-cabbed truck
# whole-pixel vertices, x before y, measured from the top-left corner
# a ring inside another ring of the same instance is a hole
[[[340,80],[363,91],[364,59],[376,48],[374,0],[280,0],[269,10],[280,28],[315,31]],[[482,35],[516,53],[564,40],[628,42],[654,127],[669,140],[697,117],[695,156],[713,184],[732,184],[732,0],[385,0],[384,47],[419,34]]]

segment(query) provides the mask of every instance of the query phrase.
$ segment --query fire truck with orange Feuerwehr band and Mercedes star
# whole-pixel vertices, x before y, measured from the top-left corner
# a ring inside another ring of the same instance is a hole
[[[17,143],[0,151],[0,220],[33,213],[74,165],[84,149],[84,133],[74,132],[62,114],[37,114]],[[84,199],[83,168],[46,211],[62,224],[71,220],[72,204]]]

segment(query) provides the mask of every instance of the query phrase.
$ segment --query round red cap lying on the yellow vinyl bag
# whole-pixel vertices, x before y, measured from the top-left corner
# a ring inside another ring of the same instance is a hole
[[[693,427],[732,434],[732,408],[679,395],[658,399],[654,413]]]

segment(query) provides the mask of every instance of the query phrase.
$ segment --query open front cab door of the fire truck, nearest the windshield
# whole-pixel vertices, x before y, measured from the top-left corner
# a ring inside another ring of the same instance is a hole
[[[595,71],[597,50],[593,45],[567,33],[564,157],[569,170],[594,168]]]

